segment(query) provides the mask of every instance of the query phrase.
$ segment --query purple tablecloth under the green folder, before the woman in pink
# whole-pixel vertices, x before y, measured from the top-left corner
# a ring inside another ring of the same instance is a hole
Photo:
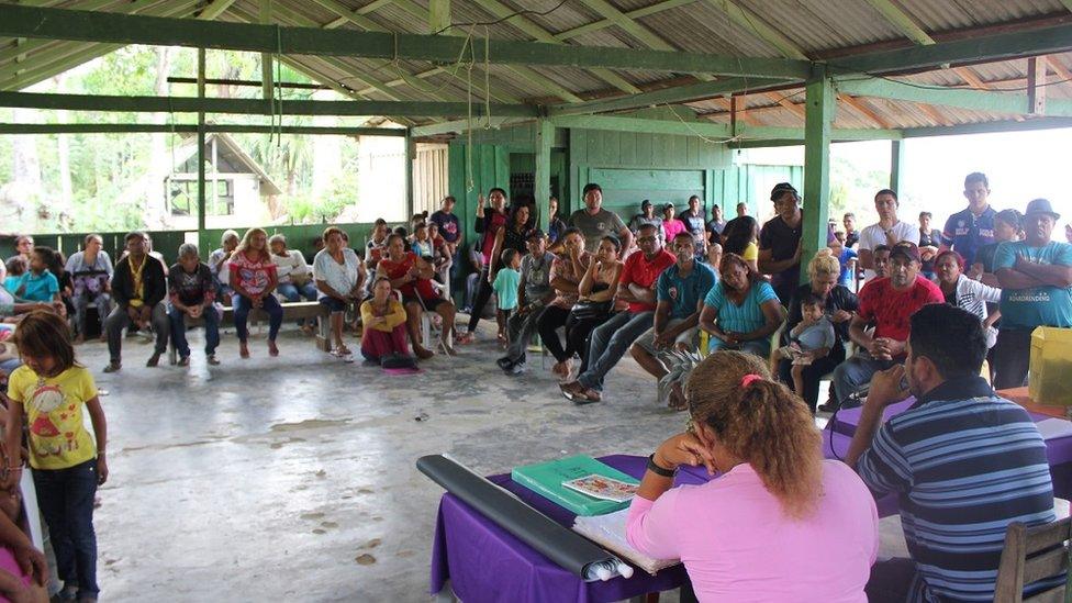
[[[648,461],[645,457],[628,455],[612,455],[599,460],[637,479],[644,476]],[[514,482],[509,474],[488,479],[561,525],[573,525],[576,514]],[[684,467],[674,478],[674,485],[700,484],[708,479],[705,469]],[[629,579],[615,577],[606,582],[585,582],[447,492],[439,501],[436,516],[431,592],[440,592],[447,580],[455,595],[466,603],[599,603],[677,589],[685,581],[685,571],[680,565],[656,576],[635,569]]]

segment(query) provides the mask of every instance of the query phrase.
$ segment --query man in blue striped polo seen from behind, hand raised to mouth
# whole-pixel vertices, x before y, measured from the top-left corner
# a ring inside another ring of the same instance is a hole
[[[930,304],[911,323],[908,357],[872,378],[845,459],[876,495],[898,493],[912,556],[875,565],[868,594],[992,601],[1008,524],[1054,521],[1046,443],[1027,411],[979,377],[978,316]],[[883,409],[909,392],[916,403],[880,427]]]

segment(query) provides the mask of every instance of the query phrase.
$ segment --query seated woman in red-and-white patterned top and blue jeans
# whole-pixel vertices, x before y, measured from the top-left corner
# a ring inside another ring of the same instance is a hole
[[[232,303],[235,332],[238,334],[238,354],[243,358],[249,357],[246,320],[249,311],[256,308],[268,313],[268,354],[279,356],[276,335],[283,324],[283,306],[271,294],[279,284],[279,279],[276,276],[276,264],[268,254],[268,234],[263,228],[246,231],[227,264],[231,269],[231,287],[235,291]]]

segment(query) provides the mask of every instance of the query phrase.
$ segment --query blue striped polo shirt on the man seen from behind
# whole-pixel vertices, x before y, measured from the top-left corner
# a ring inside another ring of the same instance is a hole
[[[1054,521],[1042,436],[980,377],[948,380],[890,418],[857,471],[876,495],[900,495],[911,601],[992,601],[1008,524]]]

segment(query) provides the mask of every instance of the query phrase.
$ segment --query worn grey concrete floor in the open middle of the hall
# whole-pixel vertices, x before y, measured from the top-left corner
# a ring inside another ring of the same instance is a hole
[[[581,453],[647,455],[683,426],[632,359],[605,402],[574,406],[551,361],[544,370],[535,356],[526,375],[504,376],[493,325],[481,326],[480,343],[415,378],[338,362],[293,327],[279,358],[252,339],[242,360],[225,335],[211,370],[200,330],[186,369],[145,368],[152,348],[135,337],[122,372],[103,375],[105,346],[80,346],[109,392],[103,600],[427,601],[442,490],[417,457],[447,451],[505,472]]]

